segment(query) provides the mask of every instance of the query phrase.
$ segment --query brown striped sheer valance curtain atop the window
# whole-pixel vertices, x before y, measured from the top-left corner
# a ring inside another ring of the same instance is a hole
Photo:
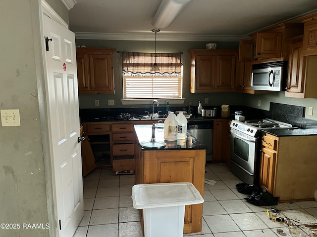
[[[151,72],[154,62],[159,72]],[[181,73],[181,53],[138,53],[122,52],[122,67],[125,75],[150,76],[158,74],[168,76]],[[166,75],[168,74],[168,75]]]

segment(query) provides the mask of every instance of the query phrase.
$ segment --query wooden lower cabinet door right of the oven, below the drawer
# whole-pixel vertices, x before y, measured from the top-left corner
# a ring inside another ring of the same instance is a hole
[[[262,147],[260,161],[260,186],[274,195],[276,153]]]

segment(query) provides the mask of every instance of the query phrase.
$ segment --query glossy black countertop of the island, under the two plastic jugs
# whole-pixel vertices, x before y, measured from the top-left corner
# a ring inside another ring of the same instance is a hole
[[[152,125],[151,124],[138,124],[134,125],[134,129],[139,140],[139,143],[143,141],[150,141],[152,137]],[[206,146],[198,141],[191,134],[187,133],[187,139],[178,139],[177,141],[165,141],[164,140],[164,129],[155,129],[156,141],[165,142],[164,148],[143,148],[142,150],[205,150]]]

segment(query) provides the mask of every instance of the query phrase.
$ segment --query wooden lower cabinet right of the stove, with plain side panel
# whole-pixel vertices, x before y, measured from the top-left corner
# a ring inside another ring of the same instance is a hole
[[[275,137],[264,133],[260,186],[279,202],[313,200],[317,184],[317,136]]]

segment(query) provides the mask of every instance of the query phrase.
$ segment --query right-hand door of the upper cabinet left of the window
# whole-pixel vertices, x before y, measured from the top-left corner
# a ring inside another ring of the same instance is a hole
[[[114,94],[112,54],[91,54],[89,61],[91,90]]]

